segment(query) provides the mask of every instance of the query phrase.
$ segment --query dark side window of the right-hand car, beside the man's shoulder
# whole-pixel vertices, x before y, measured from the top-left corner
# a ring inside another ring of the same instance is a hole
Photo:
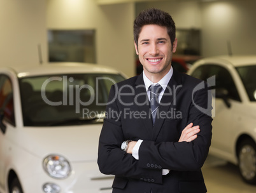
[[[202,65],[193,72],[192,76],[204,81],[207,81],[211,76],[216,76],[215,88],[225,88],[229,92],[229,98],[241,101],[234,80],[230,72],[224,67],[214,64]]]

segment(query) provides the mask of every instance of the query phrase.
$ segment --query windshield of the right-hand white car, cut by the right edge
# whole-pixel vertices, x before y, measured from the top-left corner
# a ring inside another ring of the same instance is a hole
[[[250,101],[256,101],[256,65],[245,67],[237,67],[238,74],[241,77],[245,90],[250,98]]]

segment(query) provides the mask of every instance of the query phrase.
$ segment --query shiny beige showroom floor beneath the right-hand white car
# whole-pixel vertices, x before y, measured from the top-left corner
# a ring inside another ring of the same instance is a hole
[[[208,193],[256,192],[256,185],[248,185],[243,182],[238,167],[221,159],[208,156],[202,170]]]

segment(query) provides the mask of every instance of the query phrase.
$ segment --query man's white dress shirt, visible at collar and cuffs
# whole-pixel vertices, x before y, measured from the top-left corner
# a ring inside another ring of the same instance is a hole
[[[164,91],[166,90],[167,84],[169,83],[172,76],[173,76],[173,67],[171,67],[171,69],[166,74],[166,76],[162,77],[162,79],[160,79],[160,81],[158,83],[153,83],[150,79],[148,79],[148,77],[146,77],[145,72],[143,71],[143,80],[144,80],[144,83],[145,83],[145,88],[146,88],[146,93],[148,95],[148,100],[150,100],[150,91],[148,90],[148,88],[152,84],[153,85],[160,84],[163,88],[162,91],[159,93],[159,102],[160,102],[161,99],[162,99],[162,95],[164,94]],[[143,140],[138,140],[138,142],[136,143],[136,145],[132,149],[132,156],[135,159],[139,159],[139,147],[140,147],[142,142],[143,142]],[[162,170],[162,175],[167,175],[167,173],[169,173],[169,170],[167,170],[167,169]]]

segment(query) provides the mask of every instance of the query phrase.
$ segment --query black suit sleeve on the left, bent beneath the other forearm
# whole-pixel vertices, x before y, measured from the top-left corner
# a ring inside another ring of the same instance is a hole
[[[162,183],[162,170],[143,168],[138,160],[121,150],[125,139],[122,131],[122,121],[118,116],[117,91],[111,87],[106,118],[99,137],[98,160],[99,170],[106,175],[116,175],[126,178],[136,178],[147,182]]]

